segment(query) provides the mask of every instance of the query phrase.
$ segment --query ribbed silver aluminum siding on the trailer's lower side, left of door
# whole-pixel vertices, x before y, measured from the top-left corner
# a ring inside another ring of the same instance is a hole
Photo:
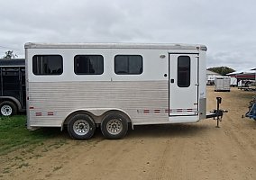
[[[169,81],[30,82],[30,126],[61,127],[70,112],[98,108],[122,109],[133,124],[167,122],[169,116],[164,110],[169,107],[168,84]],[[151,112],[141,113],[143,110]]]

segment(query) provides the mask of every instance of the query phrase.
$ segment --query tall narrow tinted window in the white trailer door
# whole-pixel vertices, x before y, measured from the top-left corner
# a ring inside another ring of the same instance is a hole
[[[188,87],[190,85],[190,57],[178,57],[178,86]]]

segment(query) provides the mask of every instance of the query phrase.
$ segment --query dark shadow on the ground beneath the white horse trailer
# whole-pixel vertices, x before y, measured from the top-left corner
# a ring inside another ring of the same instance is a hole
[[[142,125],[135,126],[134,130],[129,128],[124,139],[138,139],[138,138],[171,138],[171,137],[192,137],[198,134],[204,134],[207,130],[215,128],[213,124],[198,124],[198,123],[187,123],[187,124],[162,124],[162,125]],[[35,137],[45,136],[53,139],[70,139],[68,130],[62,132],[59,128],[41,128],[35,130],[31,134]],[[96,128],[96,132],[93,139],[105,139],[101,133],[100,128]]]

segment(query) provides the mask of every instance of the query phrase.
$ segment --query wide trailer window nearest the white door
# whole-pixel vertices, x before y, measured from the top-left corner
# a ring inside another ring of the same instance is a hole
[[[142,56],[116,55],[114,57],[114,73],[117,75],[140,75],[143,71]]]

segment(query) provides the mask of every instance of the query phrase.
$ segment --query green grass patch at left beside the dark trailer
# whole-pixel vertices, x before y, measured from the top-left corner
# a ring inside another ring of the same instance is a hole
[[[43,144],[43,141],[60,134],[59,129],[26,129],[26,116],[0,116],[0,156],[17,148],[27,148],[32,144]]]

